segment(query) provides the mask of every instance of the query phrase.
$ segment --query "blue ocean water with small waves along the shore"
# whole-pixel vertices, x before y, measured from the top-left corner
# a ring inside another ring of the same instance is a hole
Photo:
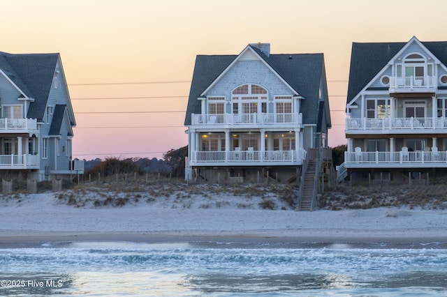
[[[447,296],[447,249],[216,242],[2,247],[0,296]]]

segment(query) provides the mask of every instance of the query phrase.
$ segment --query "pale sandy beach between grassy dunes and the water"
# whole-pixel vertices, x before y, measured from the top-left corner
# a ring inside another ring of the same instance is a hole
[[[226,207],[206,209],[195,206],[199,204],[177,208],[166,199],[121,207],[75,207],[61,203],[57,194],[51,192],[20,199],[3,197],[0,243],[447,243],[446,210],[381,207],[300,212],[239,209],[233,206],[238,201],[233,202]]]

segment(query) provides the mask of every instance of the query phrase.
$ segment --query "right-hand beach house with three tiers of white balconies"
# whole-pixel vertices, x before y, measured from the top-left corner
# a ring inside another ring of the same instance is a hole
[[[339,180],[447,168],[446,66],[447,42],[353,43]]]

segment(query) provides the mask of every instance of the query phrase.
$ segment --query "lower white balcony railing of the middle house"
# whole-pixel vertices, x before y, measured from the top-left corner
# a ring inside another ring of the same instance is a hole
[[[305,152],[297,151],[193,151],[189,163],[201,165],[207,163],[253,163],[253,162],[301,162]]]

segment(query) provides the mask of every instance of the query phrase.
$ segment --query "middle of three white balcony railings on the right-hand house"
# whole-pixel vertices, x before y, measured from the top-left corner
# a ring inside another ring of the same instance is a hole
[[[393,118],[350,119],[346,118],[346,130],[415,130],[441,129],[447,131],[447,118]]]

